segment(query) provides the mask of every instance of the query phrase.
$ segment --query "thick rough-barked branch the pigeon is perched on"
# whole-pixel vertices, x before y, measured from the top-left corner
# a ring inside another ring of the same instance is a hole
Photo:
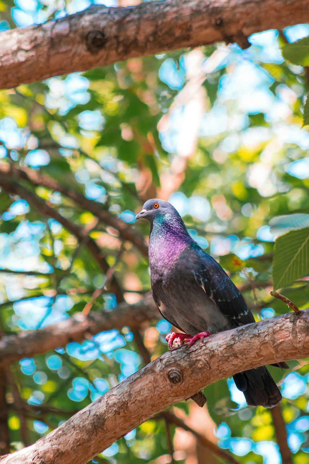
[[[246,369],[309,356],[309,310],[167,352],[1,464],[84,464],[115,440],[202,387]],[[250,348],[249,348],[250,347]]]

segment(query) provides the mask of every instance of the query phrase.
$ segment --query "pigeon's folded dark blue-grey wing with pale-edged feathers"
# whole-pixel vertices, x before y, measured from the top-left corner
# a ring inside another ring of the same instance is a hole
[[[195,255],[191,255],[190,259],[195,281],[216,303],[221,313],[230,317],[235,326],[255,322],[244,297],[220,264],[201,248],[191,249],[191,253]]]

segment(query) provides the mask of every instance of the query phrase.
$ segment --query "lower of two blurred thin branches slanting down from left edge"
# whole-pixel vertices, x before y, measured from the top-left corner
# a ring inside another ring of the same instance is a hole
[[[44,200],[42,200],[36,193],[31,192],[22,185],[14,182],[13,180],[8,180],[4,175],[0,174],[0,185],[9,193],[16,193],[21,198],[24,198],[30,205],[38,209],[38,211],[49,218],[53,218],[62,224],[69,232],[76,236],[79,241],[85,241],[85,245],[88,247],[89,251],[92,253],[96,262],[101,267],[101,270],[104,274],[107,273],[109,265],[107,264],[106,259],[104,258],[100,247],[97,245],[95,240],[89,237],[88,231],[77,226],[69,219],[64,218],[60,213],[57,212],[55,208],[50,207]],[[111,280],[111,291],[116,295],[117,301],[123,301],[122,290],[118,285],[115,277],[112,277]]]

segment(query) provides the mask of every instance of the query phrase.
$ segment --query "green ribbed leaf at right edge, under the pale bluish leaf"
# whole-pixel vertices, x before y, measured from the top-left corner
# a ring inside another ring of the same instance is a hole
[[[309,273],[309,228],[279,237],[273,259],[272,278],[277,290]]]

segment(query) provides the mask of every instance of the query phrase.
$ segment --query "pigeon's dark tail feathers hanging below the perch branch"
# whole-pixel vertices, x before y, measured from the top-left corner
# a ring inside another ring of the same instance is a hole
[[[282,400],[281,393],[265,366],[233,375],[249,406],[271,408]]]

